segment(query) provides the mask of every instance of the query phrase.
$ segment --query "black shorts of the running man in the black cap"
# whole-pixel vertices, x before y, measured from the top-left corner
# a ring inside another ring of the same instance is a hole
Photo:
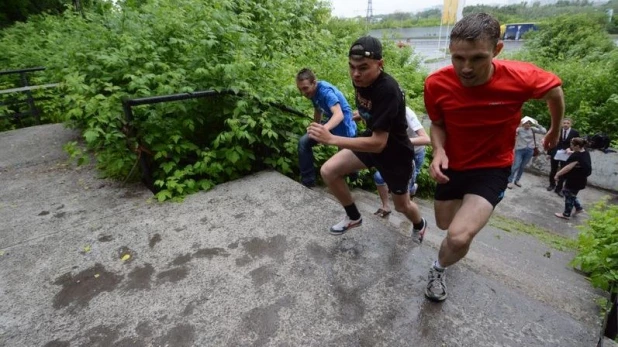
[[[384,182],[388,185],[388,189],[395,195],[408,193],[410,180],[412,179],[414,156],[400,156],[396,161],[382,163],[374,153],[352,151],[354,155],[365,164],[367,168],[375,167]]]

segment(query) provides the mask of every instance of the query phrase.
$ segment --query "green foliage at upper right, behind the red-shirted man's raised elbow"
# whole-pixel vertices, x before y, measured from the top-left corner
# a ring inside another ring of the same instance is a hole
[[[555,72],[563,81],[566,117],[582,135],[606,133],[618,139],[618,49],[598,16],[559,16],[530,33],[515,58]],[[524,114],[549,124],[546,105],[529,102]]]

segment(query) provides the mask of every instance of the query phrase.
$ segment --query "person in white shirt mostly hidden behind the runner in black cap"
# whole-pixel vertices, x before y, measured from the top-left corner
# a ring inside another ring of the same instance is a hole
[[[406,120],[408,122],[408,137],[410,137],[410,142],[414,145],[414,161],[412,162],[414,168],[412,169],[409,189],[410,196],[413,196],[418,188],[418,185],[416,184],[416,177],[420,173],[421,168],[423,167],[423,161],[425,160],[425,146],[429,145],[431,140],[429,135],[427,135],[427,132],[425,132],[425,128],[423,128],[423,125],[418,120],[416,113],[414,113],[414,111],[412,111],[409,107],[406,107]],[[382,179],[382,175],[379,171],[375,172],[373,175],[373,180],[376,183],[378,195],[380,195],[380,200],[382,201],[382,207],[380,207],[374,214],[384,218],[391,213],[388,203],[388,187],[386,186],[384,179]]]

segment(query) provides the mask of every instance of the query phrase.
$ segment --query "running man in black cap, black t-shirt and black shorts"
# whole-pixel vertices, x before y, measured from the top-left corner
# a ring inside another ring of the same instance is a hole
[[[312,123],[307,129],[312,139],[344,148],[320,170],[324,182],[346,211],[343,220],[333,225],[330,232],[341,235],[361,225],[363,220],[345,176],[375,167],[393,193],[395,210],[412,222],[412,237],[420,243],[427,221],[408,196],[414,146],[406,133],[408,125],[403,92],[397,81],[382,70],[382,44],[378,39],[371,36],[359,38],[352,44],[348,57],[350,77],[356,90],[356,107],[369,131],[363,137],[346,138],[331,134],[318,123]]]

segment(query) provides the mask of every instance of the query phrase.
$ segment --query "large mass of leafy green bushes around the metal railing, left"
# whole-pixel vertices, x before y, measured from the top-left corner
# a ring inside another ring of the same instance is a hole
[[[263,168],[294,177],[310,118],[268,103],[312,114],[294,82],[302,67],[352,100],[346,53],[362,30],[331,19],[318,0],[127,1],[3,30],[0,65],[46,66],[38,82],[61,82],[63,95],[49,107],[83,130],[102,172],[125,179],[147,156],[164,200]],[[420,105],[423,75],[410,56],[385,45],[387,70]],[[247,96],[138,106],[131,123],[121,106],[125,97],[227,89]],[[334,150],[318,148],[318,164]]]

